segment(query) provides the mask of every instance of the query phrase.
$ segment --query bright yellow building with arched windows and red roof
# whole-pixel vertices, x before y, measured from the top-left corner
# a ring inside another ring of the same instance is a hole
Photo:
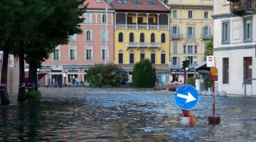
[[[169,82],[169,14],[161,1],[112,1],[115,9],[114,63],[129,72],[134,63],[149,58],[159,82]]]

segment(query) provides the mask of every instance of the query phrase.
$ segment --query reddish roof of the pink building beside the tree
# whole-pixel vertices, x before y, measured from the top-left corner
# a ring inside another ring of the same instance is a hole
[[[85,4],[88,4],[88,3],[89,3],[89,5],[87,6],[86,10],[104,10],[105,11],[105,9],[106,9],[104,0],[86,0]],[[108,6],[108,9],[114,10],[114,9],[112,9],[111,6]]]

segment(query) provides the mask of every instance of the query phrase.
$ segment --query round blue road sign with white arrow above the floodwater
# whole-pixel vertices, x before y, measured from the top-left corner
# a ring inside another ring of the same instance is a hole
[[[199,102],[199,94],[195,87],[185,84],[176,90],[174,100],[181,109],[193,109]]]

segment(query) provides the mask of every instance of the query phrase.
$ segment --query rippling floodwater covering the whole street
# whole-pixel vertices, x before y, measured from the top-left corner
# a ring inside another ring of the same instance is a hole
[[[242,116],[242,97],[217,97],[218,126],[208,125],[212,97],[181,126],[174,93],[143,89],[41,88],[41,102],[0,106],[0,141],[256,141],[255,111]],[[256,98],[247,98],[256,107]]]

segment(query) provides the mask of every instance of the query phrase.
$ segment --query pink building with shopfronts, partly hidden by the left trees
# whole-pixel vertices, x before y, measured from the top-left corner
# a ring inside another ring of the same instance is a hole
[[[73,78],[78,77],[85,81],[86,72],[95,63],[114,62],[114,9],[109,6],[108,30],[105,35],[105,1],[87,0],[84,23],[81,23],[83,33],[70,36],[68,45],[58,45],[50,54],[50,59],[43,62],[43,72],[48,72],[40,82],[42,84],[53,84],[53,78],[58,84],[71,84]],[[107,50],[105,48],[107,40]],[[107,52],[107,57],[105,57]],[[18,62],[15,62],[18,65]],[[28,68],[28,65],[26,65]]]

